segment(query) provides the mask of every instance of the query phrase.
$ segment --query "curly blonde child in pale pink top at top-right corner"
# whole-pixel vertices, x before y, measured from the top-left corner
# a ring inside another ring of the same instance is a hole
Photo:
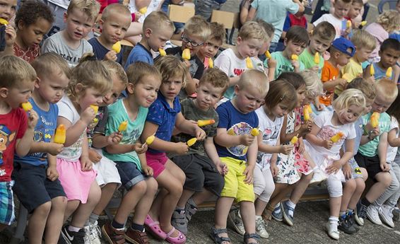
[[[380,61],[378,54],[380,45],[382,45],[384,40],[389,38],[389,33],[392,33],[394,30],[400,30],[400,15],[397,11],[384,11],[380,16],[377,16],[375,23],[371,23],[365,28],[365,31],[373,35],[377,42],[375,50],[369,57],[372,62]]]

